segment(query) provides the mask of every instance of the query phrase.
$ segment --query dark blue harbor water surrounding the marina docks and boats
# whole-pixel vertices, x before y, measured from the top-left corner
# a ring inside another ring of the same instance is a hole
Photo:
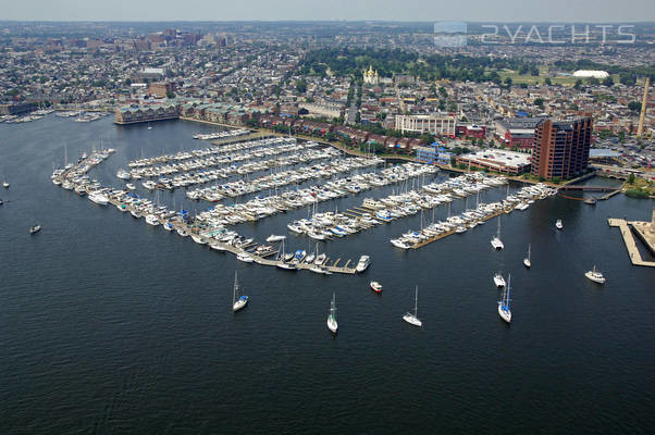
[[[120,186],[114,174],[127,160],[207,146],[190,136],[210,130],[54,116],[0,125],[0,174],[11,183],[0,192],[1,433],[655,431],[655,271],[632,266],[606,222],[647,220],[653,201],[537,201],[503,215],[502,252],[489,243],[495,220],[400,252],[387,240],[419,228],[415,215],[321,244],[333,259],[369,253],[372,265],[362,275],[320,276],[239,263],[50,183],[64,146],[70,159],[116,148],[90,175]],[[344,210],[398,188],[319,208]],[[207,207],[183,192],[162,200]],[[464,208],[460,200],[452,211]],[[442,207],[435,217],[446,214]],[[306,215],[237,229],[263,240]],[[29,236],[35,222],[44,229]],[[288,245],[313,246],[293,236]],[[594,263],[608,279],[603,287],[583,276]],[[235,269],[251,301],[233,315]],[[510,326],[496,312],[497,270],[511,272]],[[371,279],[383,295],[369,289]],[[422,330],[401,320],[415,285]],[[333,291],[336,338],[325,327]]]

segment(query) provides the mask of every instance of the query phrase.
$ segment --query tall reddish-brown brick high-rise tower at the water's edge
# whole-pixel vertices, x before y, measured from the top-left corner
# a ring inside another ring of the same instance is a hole
[[[586,170],[591,147],[591,117],[543,120],[534,129],[532,175],[570,178]]]

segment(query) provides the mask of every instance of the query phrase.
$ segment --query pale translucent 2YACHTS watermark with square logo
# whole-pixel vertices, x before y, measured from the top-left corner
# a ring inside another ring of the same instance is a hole
[[[464,47],[469,38],[477,44],[634,44],[634,26],[629,24],[480,24],[468,32],[465,22],[434,23],[434,45]]]

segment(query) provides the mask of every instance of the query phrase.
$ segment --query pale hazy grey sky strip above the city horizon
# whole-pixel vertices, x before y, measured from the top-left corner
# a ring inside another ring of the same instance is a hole
[[[655,21],[655,0],[0,0],[0,20]]]

